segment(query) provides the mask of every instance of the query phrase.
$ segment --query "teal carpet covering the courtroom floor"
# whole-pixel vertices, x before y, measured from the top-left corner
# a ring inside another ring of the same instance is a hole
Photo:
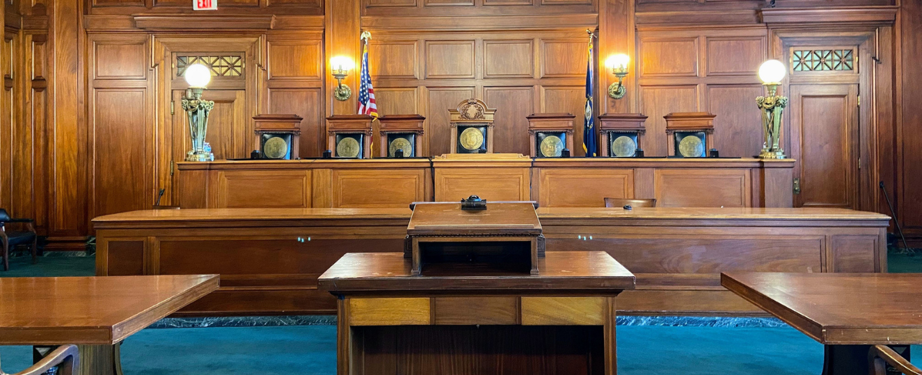
[[[0,277],[85,276],[92,257],[13,258]],[[922,272],[922,255],[891,254],[891,272]],[[913,347],[922,364],[922,347]],[[30,347],[0,347],[2,369],[31,363]],[[125,375],[329,375],[336,372],[336,326],[294,325],[145,329],[125,340]],[[621,375],[815,375],[822,346],[790,327],[623,325]]]

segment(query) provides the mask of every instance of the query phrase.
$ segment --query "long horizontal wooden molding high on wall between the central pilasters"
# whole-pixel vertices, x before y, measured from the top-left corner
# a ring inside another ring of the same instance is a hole
[[[584,28],[598,25],[598,14],[547,16],[470,16],[470,17],[361,17],[361,27],[371,29],[408,30],[451,29],[558,29]]]

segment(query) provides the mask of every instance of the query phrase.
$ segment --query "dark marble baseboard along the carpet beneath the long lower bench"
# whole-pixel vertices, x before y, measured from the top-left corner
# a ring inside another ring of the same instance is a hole
[[[214,318],[165,318],[150,328],[262,327],[278,325],[332,325],[336,315],[233,316]],[[619,316],[618,325],[694,327],[782,327],[775,318],[727,318],[702,316]]]

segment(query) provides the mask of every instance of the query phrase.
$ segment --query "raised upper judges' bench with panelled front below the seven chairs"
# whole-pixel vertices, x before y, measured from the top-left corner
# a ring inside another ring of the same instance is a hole
[[[446,154],[407,159],[178,163],[183,209],[405,208],[414,201],[537,200],[601,207],[655,198],[661,207],[791,207],[793,160],[538,158]]]

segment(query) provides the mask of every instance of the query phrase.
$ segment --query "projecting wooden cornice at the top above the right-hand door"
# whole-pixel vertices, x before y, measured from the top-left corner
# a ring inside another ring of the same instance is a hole
[[[840,8],[765,8],[766,24],[785,23],[874,23],[892,25],[899,6],[850,6]]]

